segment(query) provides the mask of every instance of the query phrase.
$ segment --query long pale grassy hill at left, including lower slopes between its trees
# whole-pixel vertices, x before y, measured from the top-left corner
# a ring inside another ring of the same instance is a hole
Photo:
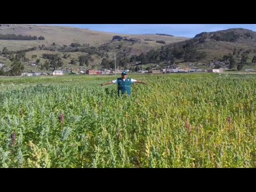
[[[43,36],[44,40],[3,40],[0,39],[0,51],[4,47],[7,47],[8,51],[20,51],[35,48],[34,50],[26,50],[26,57],[29,59],[25,64],[25,70],[33,70],[34,67],[29,65],[30,62],[35,62],[36,59],[40,59],[43,63],[45,59],[42,58],[44,53],[58,54],[63,61],[63,67],[66,68],[79,68],[78,57],[80,55],[88,55],[86,52],[76,51],[76,47],[71,47],[71,44],[79,44],[84,47],[95,46],[95,49],[99,52],[105,52],[108,58],[114,59],[114,53],[118,55],[125,55],[129,57],[133,54],[140,54],[147,52],[150,49],[159,49],[164,44],[158,43],[158,41],[164,41],[165,44],[185,41],[189,38],[174,37],[166,35],[145,34],[145,35],[122,35],[114,33],[103,33],[100,31],[92,31],[88,29],[80,29],[73,27],[60,27],[60,26],[43,26],[43,25],[0,25],[1,35],[22,35],[22,36]],[[121,39],[115,41],[114,36],[126,38],[127,41]],[[100,47],[104,45],[108,47],[108,50],[101,50]],[[66,47],[65,49],[63,47]],[[79,48],[79,46],[78,46]],[[63,58],[63,54],[69,54],[69,58]],[[32,55],[37,55],[36,58],[32,58]],[[106,57],[103,56],[103,57]],[[84,68],[90,68],[93,64],[96,68],[100,68],[100,63],[103,57],[101,55],[93,53],[91,55],[93,62],[89,62],[89,66]],[[76,65],[71,65],[70,61],[74,59],[77,61]],[[8,58],[0,57],[0,63],[4,63],[6,67],[11,65],[11,61]]]

